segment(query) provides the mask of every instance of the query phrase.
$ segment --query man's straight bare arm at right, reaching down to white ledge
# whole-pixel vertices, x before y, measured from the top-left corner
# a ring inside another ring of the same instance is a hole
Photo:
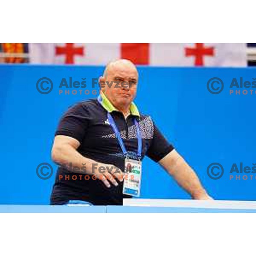
[[[193,199],[212,200],[201,185],[198,176],[175,149],[163,157],[158,163],[174,177],[177,183],[185,189]]]

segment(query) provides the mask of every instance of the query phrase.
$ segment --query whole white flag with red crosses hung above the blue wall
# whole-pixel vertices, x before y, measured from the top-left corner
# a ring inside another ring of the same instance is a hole
[[[29,44],[31,63],[105,65],[125,58],[137,65],[245,67],[246,44]]]

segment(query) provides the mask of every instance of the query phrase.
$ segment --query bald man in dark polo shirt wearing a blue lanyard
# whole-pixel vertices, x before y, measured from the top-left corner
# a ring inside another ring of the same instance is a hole
[[[192,198],[212,199],[151,117],[141,114],[134,104],[138,84],[134,64],[128,60],[111,62],[99,84],[99,97],[70,108],[58,125],[52,160],[60,167],[51,204],[80,200],[122,205],[123,198],[139,195],[139,174],[147,171],[141,166],[145,155],[163,166]],[[125,166],[135,166],[135,179],[125,177],[131,175]]]

